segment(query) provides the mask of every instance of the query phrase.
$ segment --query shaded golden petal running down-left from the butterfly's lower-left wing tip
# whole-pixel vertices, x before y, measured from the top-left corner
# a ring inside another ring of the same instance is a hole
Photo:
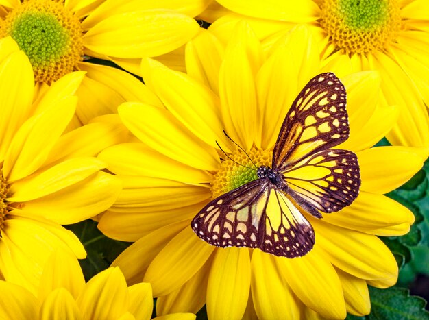
[[[101,221],[102,220],[103,217],[101,217]],[[121,268],[129,285],[142,282],[147,267],[149,267],[149,264],[158,252],[169,243],[173,236],[184,230],[188,225],[189,221],[180,221],[155,230],[147,236],[143,236],[130,245],[130,247],[127,247],[127,249],[112,262],[112,267],[118,266]]]

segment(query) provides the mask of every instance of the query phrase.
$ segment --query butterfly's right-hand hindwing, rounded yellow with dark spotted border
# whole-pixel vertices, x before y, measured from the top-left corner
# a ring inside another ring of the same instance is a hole
[[[282,175],[292,190],[323,212],[349,206],[359,193],[358,159],[352,151],[327,149],[312,153],[282,171]]]

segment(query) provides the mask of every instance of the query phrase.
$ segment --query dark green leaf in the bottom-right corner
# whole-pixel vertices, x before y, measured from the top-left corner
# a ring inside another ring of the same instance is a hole
[[[426,301],[410,296],[405,288],[378,289],[369,286],[371,313],[369,320],[429,320],[429,312],[424,310]]]

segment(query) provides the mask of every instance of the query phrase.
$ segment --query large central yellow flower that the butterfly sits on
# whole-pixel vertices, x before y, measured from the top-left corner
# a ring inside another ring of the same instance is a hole
[[[222,130],[258,166],[269,165],[297,93],[326,71],[305,28],[273,48],[266,57],[245,23],[234,29],[226,48],[210,32],[201,32],[186,47],[189,75],[153,60],[143,63],[147,86],[164,107],[119,107],[123,123],[141,143],[99,154],[124,186],[99,229],[112,238],[136,241],[113,265],[121,267],[130,284],[151,283],[158,314],[197,312],[207,304],[209,319],[341,319],[346,310],[369,312],[367,284],[385,288],[397,280],[395,259],[376,235],[406,234],[414,217],[383,194],[412,177],[428,149],[370,149],[398,114],[382,99],[375,72],[341,77],[350,138],[338,147],[356,153],[362,184],[357,199],[340,212],[323,214],[323,219],[305,214],[316,238],[306,256],[289,259],[259,249],[217,248],[191,230],[191,220],[219,195],[219,185],[226,193],[225,185],[234,184],[236,176],[246,180],[249,173],[221,161],[225,155],[216,141],[231,158],[247,163]]]

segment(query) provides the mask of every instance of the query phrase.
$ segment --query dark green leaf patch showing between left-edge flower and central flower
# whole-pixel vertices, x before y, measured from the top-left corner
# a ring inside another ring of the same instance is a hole
[[[131,244],[108,238],[97,229],[97,222],[93,220],[65,227],[71,230],[85,247],[86,259],[79,260],[79,263],[86,281],[107,269],[113,260]]]

